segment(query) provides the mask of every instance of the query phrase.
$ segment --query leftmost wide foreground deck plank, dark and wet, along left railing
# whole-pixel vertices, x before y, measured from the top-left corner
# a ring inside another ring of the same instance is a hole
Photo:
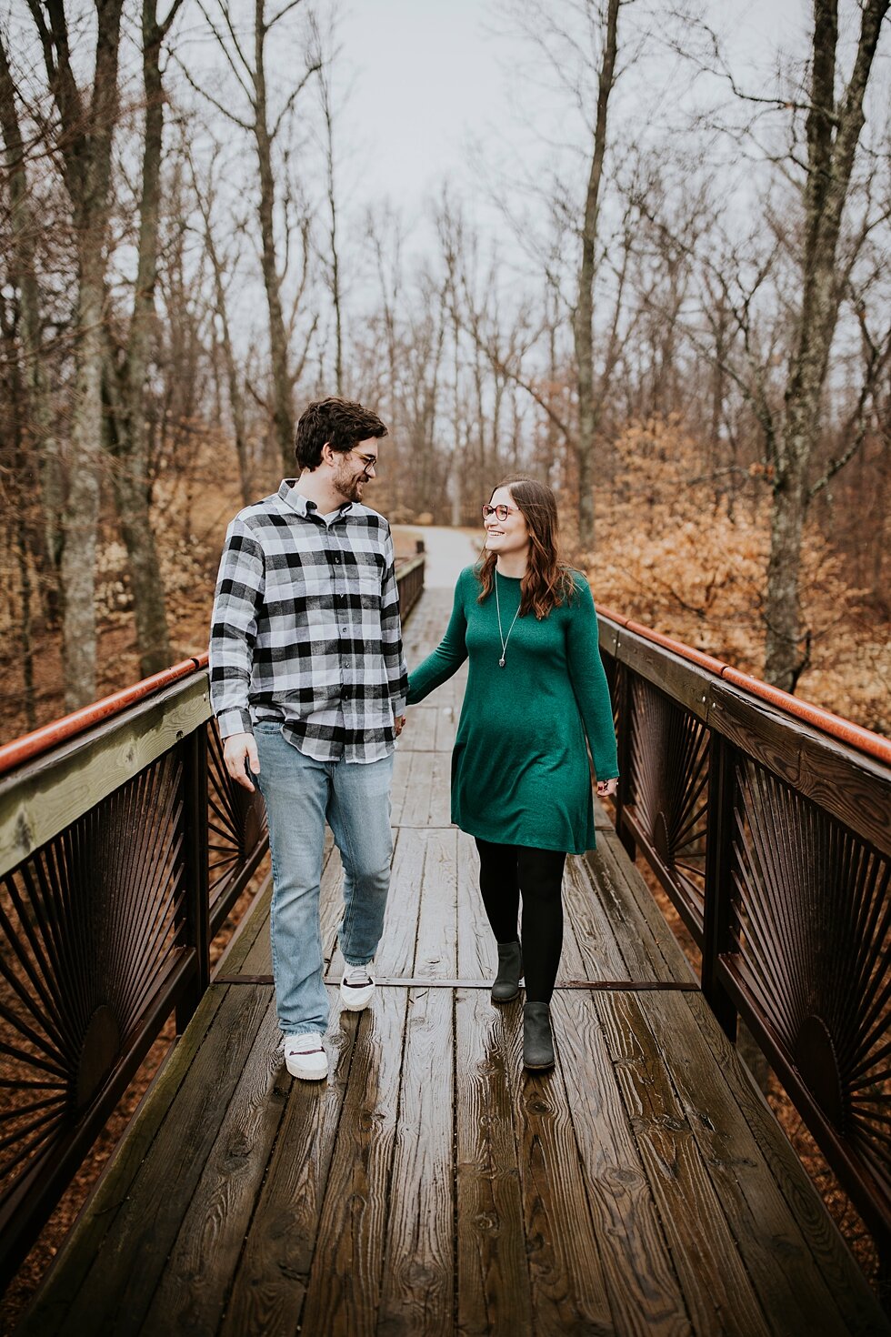
[[[107,1330],[126,1337],[139,1332],[267,1005],[267,987],[226,989],[212,1036],[200,1046],[182,1084],[176,1116],[158,1130],[63,1333],[80,1337]],[[139,1266],[134,1266],[136,1258]]]

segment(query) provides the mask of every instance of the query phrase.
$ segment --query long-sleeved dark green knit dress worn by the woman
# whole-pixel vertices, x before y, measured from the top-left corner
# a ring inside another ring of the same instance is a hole
[[[505,636],[520,579],[496,575]],[[477,603],[473,567],[458,576],[442,642],[409,677],[409,705],[470,660],[452,754],[452,821],[480,840],[581,854],[594,848],[592,782],[618,774],[609,689],[588,582],[538,620],[517,618],[505,667],[494,591]]]

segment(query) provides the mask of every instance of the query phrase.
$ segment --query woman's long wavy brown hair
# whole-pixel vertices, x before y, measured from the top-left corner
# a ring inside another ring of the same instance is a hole
[[[529,560],[520,587],[520,616],[534,612],[538,619],[546,618],[553,607],[564,600],[568,603],[576,592],[572,571],[560,560],[557,501],[550,488],[534,479],[508,479],[492,489],[489,500],[498,488],[508,488],[529,527]],[[477,567],[482,587],[478,603],[492,594],[497,560],[497,552],[485,552],[481,558]]]

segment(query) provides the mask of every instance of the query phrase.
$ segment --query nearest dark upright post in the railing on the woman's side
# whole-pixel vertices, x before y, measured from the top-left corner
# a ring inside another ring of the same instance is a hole
[[[733,747],[712,731],[708,757],[705,905],[703,915],[703,993],[728,1038],[736,1040],[736,1008],[719,983],[719,957],[731,943],[732,853],[736,802]]]

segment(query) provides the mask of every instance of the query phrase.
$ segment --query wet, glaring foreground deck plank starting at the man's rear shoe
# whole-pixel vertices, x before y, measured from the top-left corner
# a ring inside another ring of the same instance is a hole
[[[361,1015],[327,1177],[302,1330],[369,1337],[381,1302],[407,993]]]

